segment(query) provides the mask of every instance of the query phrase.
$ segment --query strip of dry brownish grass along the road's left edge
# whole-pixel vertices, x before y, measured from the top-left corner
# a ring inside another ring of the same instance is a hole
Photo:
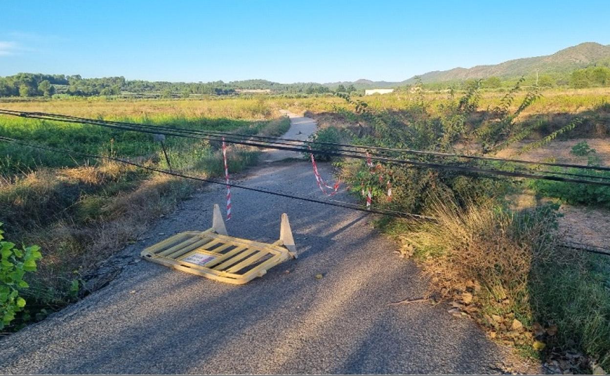
[[[171,211],[190,194],[195,183],[169,176],[152,176],[132,192],[108,200],[101,211],[106,218],[84,225],[71,219],[24,236],[24,241],[43,249],[32,289],[41,303],[62,302],[71,280],[91,272],[101,262],[145,232],[147,225]],[[88,285],[95,290],[99,286]]]

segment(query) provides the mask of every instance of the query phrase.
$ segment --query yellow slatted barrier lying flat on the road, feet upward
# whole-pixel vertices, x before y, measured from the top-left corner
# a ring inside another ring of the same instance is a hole
[[[220,208],[214,205],[211,229],[178,233],[146,248],[141,255],[180,271],[242,285],[296,258],[296,249],[286,213],[281,217],[278,241],[268,244],[228,236]]]

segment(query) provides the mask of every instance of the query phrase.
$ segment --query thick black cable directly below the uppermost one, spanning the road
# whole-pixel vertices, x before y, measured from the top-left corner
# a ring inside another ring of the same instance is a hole
[[[43,117],[39,117],[39,116],[32,116],[32,117],[37,118],[37,119],[48,119],[48,118],[43,118]],[[54,120],[54,119],[48,119],[48,120]],[[148,130],[148,129],[135,130],[135,129],[131,129],[128,126],[118,126],[118,125],[108,124],[103,121],[95,121],[95,120],[80,121],[80,120],[70,120],[70,119],[63,119],[62,121],[73,122],[73,123],[78,123],[78,124],[83,124],[83,123],[84,124],[95,124],[95,125],[102,126],[102,127],[109,127],[111,129],[132,130],[132,131],[149,133],[149,134],[163,134],[163,135],[170,135],[170,136],[183,137],[183,138],[199,138],[199,139],[210,140],[210,141],[222,141],[222,139],[218,138],[218,137],[211,137],[211,136],[204,136],[204,135],[184,135],[182,133],[179,133],[179,132],[176,133],[173,131],[172,132],[168,132],[168,131],[164,131],[164,132],[157,131],[156,132],[154,130]],[[295,152],[301,152],[301,153],[312,152],[315,154],[325,154],[325,155],[331,155],[334,157],[348,157],[348,158],[356,158],[356,159],[362,159],[362,160],[370,159],[370,160],[382,161],[385,163],[392,163],[395,165],[411,165],[411,166],[418,166],[418,167],[422,167],[422,168],[451,169],[451,170],[455,170],[455,171],[468,171],[468,172],[476,172],[479,174],[487,174],[487,175],[491,174],[491,175],[510,176],[510,177],[525,177],[525,178],[529,178],[529,179],[538,179],[538,180],[553,180],[553,181],[558,181],[558,182],[586,183],[586,184],[610,186],[610,182],[598,182],[598,181],[593,181],[593,180],[562,178],[562,177],[549,176],[549,175],[526,174],[523,172],[488,170],[488,169],[468,167],[468,166],[446,165],[446,164],[442,164],[442,163],[430,163],[430,162],[413,161],[413,160],[400,160],[400,159],[396,159],[396,158],[378,157],[376,155],[371,155],[371,156],[358,155],[358,154],[353,154],[353,152],[350,152],[352,154],[346,154],[345,151],[343,151],[343,153],[341,153],[341,152],[334,152],[334,151],[323,151],[323,150],[319,150],[319,149],[308,149],[306,147],[273,146],[271,144],[265,144],[265,143],[261,144],[261,143],[254,143],[254,142],[248,142],[248,141],[239,141],[239,140],[232,140],[229,138],[226,139],[226,142],[233,143],[233,144],[242,144],[242,145],[246,145],[246,146],[265,147],[265,148],[285,150],[285,151],[295,151]],[[586,167],[592,168],[592,166],[586,166]]]

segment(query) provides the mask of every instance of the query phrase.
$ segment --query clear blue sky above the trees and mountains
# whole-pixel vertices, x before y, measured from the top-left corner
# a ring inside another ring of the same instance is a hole
[[[0,76],[400,81],[610,44],[608,1],[13,1]]]

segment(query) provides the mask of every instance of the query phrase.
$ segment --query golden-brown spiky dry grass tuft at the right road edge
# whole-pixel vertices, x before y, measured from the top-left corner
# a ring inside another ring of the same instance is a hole
[[[465,282],[476,282],[491,305],[506,299],[518,302],[525,294],[534,254],[553,246],[554,239],[548,236],[553,216],[528,222],[526,215],[497,210],[492,203],[462,210],[437,202],[432,213],[439,222],[423,225],[406,239],[416,252],[433,250],[439,255],[426,259],[426,271],[447,293],[461,293]]]

